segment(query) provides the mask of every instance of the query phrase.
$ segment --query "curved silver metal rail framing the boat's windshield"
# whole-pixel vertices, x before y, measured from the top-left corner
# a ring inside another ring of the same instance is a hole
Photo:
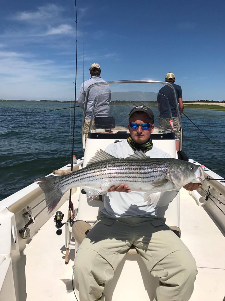
[[[179,106],[178,106],[178,98],[177,98],[176,90],[173,87],[173,84],[170,84],[169,82],[161,82],[161,81],[127,80],[127,81],[98,82],[98,83],[94,83],[94,84],[90,85],[86,92],[84,108],[83,108],[83,119],[82,119],[82,126],[81,126],[82,142],[84,142],[83,141],[83,139],[84,139],[84,121],[85,121],[85,115],[86,115],[86,110],[87,110],[89,91],[91,90],[91,88],[96,87],[96,86],[103,86],[103,85],[128,84],[128,83],[147,83],[147,84],[167,85],[172,88],[173,99],[176,104],[176,110],[177,110],[177,115],[178,115],[178,122],[180,124],[180,150],[182,150],[183,128],[182,128],[182,123],[181,123],[181,118],[180,118],[180,111],[179,111]]]

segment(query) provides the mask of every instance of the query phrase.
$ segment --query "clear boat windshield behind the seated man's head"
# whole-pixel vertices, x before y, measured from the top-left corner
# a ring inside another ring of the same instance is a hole
[[[138,105],[144,105],[153,111],[155,125],[151,135],[153,139],[175,139],[167,97],[155,92],[133,91],[111,92],[95,97],[88,138],[126,139],[129,135],[129,113]]]

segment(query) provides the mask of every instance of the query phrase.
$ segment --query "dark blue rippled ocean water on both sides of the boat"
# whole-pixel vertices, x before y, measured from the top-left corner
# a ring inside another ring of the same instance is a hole
[[[0,200],[71,162],[73,108],[45,112],[70,106],[73,104],[0,101]],[[82,114],[76,108],[77,158],[83,156]],[[225,112],[186,109],[185,114],[215,145],[184,116],[183,150],[225,177]]]

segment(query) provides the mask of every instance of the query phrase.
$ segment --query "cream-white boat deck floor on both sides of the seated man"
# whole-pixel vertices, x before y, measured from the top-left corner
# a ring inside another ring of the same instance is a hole
[[[73,198],[78,199],[78,191]],[[190,301],[222,301],[224,288],[221,284],[222,279],[225,279],[225,257],[222,256],[225,249],[224,236],[186,190],[181,190],[180,199],[181,238],[192,252],[198,267]],[[60,210],[66,217],[68,203],[64,203]],[[65,226],[62,235],[56,235],[53,219],[51,217],[42,226],[24,250],[26,301],[39,301],[40,298],[76,300],[72,286],[74,250],[69,251],[69,263],[65,265]]]

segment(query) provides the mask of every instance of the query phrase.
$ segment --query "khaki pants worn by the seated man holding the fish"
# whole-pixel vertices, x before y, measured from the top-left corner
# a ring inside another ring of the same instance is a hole
[[[80,301],[105,300],[103,290],[131,246],[148,272],[159,277],[158,301],[187,301],[197,275],[196,263],[180,238],[161,219],[98,216],[74,260]]]

